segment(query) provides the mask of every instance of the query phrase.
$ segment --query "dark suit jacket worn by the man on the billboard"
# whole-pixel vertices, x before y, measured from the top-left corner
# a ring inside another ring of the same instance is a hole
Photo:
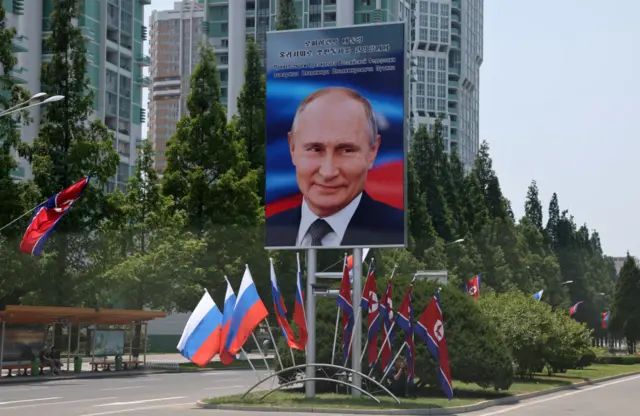
[[[301,218],[301,207],[267,218],[265,247],[295,247]],[[363,192],[341,244],[354,247],[404,244],[404,211]]]

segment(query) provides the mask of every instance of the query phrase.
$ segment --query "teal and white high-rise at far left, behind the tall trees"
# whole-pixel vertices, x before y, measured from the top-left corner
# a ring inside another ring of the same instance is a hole
[[[48,51],[43,39],[50,33],[53,0],[2,0],[7,24],[15,27],[18,65],[16,76],[32,93],[40,92],[40,67]],[[142,88],[148,86],[143,67],[150,64],[142,44],[147,38],[144,6],[151,0],[82,0],[78,25],[87,46],[87,76],[94,93],[93,117],[103,120],[114,134],[114,149],[120,156],[116,176],[107,190],[124,189],[135,171],[136,149],[142,140],[146,111]],[[22,140],[38,134],[40,110],[32,111],[34,123],[23,127]],[[28,178],[31,169],[20,161],[16,179]]]

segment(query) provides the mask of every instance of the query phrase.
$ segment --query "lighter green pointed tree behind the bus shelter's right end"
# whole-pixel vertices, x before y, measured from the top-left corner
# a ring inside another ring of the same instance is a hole
[[[171,210],[171,200],[161,195],[149,142],[140,152],[126,195],[118,190],[110,200],[117,213],[102,231],[112,243],[107,247],[107,253],[112,255],[96,259],[97,264],[112,263],[102,275],[101,289],[107,292],[104,297],[127,309],[150,307],[170,312],[184,308],[181,300],[202,293],[198,281],[204,273],[193,265],[205,245],[190,233],[181,232],[185,217],[182,212]],[[137,324],[135,357],[140,334],[141,326]]]

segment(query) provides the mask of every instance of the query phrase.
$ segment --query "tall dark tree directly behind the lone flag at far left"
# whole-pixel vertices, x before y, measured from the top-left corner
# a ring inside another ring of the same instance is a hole
[[[87,77],[85,41],[75,23],[80,18],[79,7],[77,0],[53,2],[51,33],[45,39],[51,58],[42,64],[40,81],[43,91],[65,98],[43,108],[38,137],[21,148],[31,163],[41,200],[87,175],[97,183],[57,225],[34,276],[34,287],[24,299],[54,306],[82,305],[86,299],[86,287],[92,280],[84,274],[86,253],[96,226],[104,218],[102,189],[118,165],[112,134],[101,121],[89,121],[93,93]]]

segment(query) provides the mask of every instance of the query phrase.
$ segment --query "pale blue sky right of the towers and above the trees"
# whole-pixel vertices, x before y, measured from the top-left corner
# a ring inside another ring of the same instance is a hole
[[[480,140],[516,217],[536,180],[545,221],[556,192],[607,255],[640,256],[640,0],[484,4]]]

